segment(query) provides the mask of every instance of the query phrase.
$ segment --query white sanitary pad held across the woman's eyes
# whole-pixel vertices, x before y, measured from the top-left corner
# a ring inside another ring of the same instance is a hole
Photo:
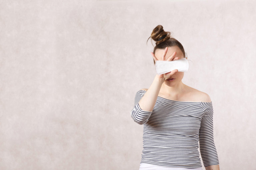
[[[171,72],[175,69],[178,69],[179,72],[187,72],[188,60],[186,58],[173,61],[156,60],[155,69],[158,75]]]

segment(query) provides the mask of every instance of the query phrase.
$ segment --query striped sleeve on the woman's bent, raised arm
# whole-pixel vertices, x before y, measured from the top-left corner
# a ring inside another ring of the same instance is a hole
[[[140,99],[143,97],[144,93],[139,90],[136,95],[135,95],[135,99],[134,99],[134,106],[133,106],[133,109],[131,111],[131,117],[132,119],[134,120],[134,122],[142,125],[142,124],[145,124],[151,113],[152,112],[149,112],[149,111],[144,111],[140,108],[139,106],[139,101]]]

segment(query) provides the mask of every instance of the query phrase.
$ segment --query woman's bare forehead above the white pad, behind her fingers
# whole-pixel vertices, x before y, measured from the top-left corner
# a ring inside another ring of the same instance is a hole
[[[180,50],[180,48],[177,45],[175,45],[172,47],[168,47],[168,51],[166,53],[165,59],[170,57],[174,53],[174,51],[176,51],[176,55],[175,55],[176,57],[179,57],[179,58],[184,57],[183,52]],[[164,54],[164,49],[156,49],[155,56],[157,59],[161,59],[163,54]]]

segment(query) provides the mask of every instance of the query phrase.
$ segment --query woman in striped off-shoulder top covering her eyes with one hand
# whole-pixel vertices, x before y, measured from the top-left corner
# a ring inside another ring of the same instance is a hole
[[[161,25],[149,37],[156,41],[151,55],[172,61],[185,57],[180,42]],[[204,92],[182,83],[177,69],[156,75],[149,89],[137,91],[133,120],[143,126],[143,151],[139,170],[219,170],[213,139],[212,101]]]

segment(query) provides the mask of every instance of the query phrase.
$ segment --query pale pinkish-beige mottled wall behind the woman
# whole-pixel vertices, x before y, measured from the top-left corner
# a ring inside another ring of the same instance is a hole
[[[180,41],[183,83],[214,107],[220,169],[255,169],[255,1],[0,3],[0,169],[138,170],[130,111],[155,76],[149,41]]]

